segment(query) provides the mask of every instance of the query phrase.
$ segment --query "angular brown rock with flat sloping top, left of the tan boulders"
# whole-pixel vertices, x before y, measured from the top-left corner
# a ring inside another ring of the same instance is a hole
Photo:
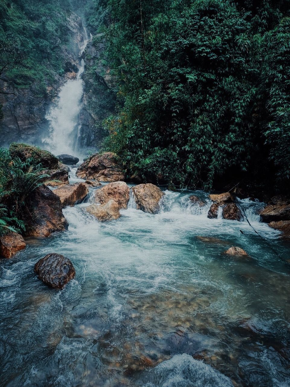
[[[84,183],[75,183],[72,185],[62,185],[56,188],[53,193],[58,195],[63,208],[67,205],[73,207],[85,199],[86,195],[88,195],[88,188]]]

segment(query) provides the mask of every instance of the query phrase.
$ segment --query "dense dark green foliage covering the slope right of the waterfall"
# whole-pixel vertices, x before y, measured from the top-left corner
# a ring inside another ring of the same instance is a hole
[[[289,187],[288,0],[93,0],[89,9],[119,88],[104,149],[128,176]]]

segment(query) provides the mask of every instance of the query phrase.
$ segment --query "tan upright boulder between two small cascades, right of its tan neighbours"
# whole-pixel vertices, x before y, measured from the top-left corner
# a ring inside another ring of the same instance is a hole
[[[132,188],[136,208],[150,214],[157,214],[160,211],[159,201],[164,193],[156,185],[139,184]]]

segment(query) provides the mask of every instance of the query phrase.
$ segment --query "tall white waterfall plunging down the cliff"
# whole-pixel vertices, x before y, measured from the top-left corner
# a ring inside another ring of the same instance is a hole
[[[80,55],[88,43],[88,35],[84,29],[84,42],[80,47]],[[49,135],[43,140],[44,147],[52,153],[78,154],[78,138],[80,136],[79,114],[82,107],[83,80],[81,74],[85,69],[85,61],[81,59],[80,69],[75,79],[68,80],[60,89],[57,103],[46,115],[49,121]]]

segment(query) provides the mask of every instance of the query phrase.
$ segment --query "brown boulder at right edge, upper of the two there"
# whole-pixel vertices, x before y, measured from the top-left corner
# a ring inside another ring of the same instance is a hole
[[[272,197],[260,216],[266,223],[290,220],[290,199],[281,195]]]

